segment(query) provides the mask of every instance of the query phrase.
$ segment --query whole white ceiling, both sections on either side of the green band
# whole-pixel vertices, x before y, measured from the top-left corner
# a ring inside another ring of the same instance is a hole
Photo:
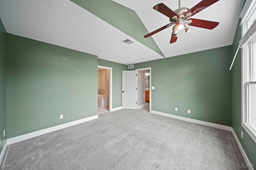
[[[163,2],[172,10],[178,0],[114,0],[134,10],[149,32],[169,21],[152,7]],[[192,8],[200,0],[181,0],[181,6]],[[192,18],[218,21],[212,30],[193,27],[183,41],[170,44],[172,28],[153,35],[165,57],[231,45],[243,0],[220,0]],[[0,0],[0,18],[8,33],[97,55],[98,58],[122,64],[156,59],[161,55],[94,16],[70,0]],[[144,36],[144,35],[142,35]],[[121,42],[130,39],[128,45]],[[146,60],[142,58],[146,57]]]

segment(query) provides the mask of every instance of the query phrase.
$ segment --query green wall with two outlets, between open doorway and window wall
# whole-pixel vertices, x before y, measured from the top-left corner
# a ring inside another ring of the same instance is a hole
[[[152,68],[152,110],[231,126],[231,51],[226,46],[138,63],[134,69]]]

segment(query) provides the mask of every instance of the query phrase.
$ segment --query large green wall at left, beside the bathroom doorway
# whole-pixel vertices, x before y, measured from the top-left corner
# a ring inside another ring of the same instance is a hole
[[[98,114],[97,56],[11,34],[7,42],[7,138]]]

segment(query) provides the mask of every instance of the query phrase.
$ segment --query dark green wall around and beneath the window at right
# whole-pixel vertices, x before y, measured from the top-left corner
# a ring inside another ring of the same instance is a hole
[[[238,22],[240,23],[240,21]],[[236,35],[232,45],[232,57],[234,57],[238,48],[238,42],[241,39],[241,26],[238,25],[236,29]],[[241,96],[241,64],[242,64],[242,52],[241,49],[236,55],[236,60],[232,66],[232,127],[238,137],[246,155],[248,156],[251,164],[256,165],[256,143],[248,135],[248,133],[242,127],[242,96]],[[243,139],[241,137],[241,131],[243,131]]]

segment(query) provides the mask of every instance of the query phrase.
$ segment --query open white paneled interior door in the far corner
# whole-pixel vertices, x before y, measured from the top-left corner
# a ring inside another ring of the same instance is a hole
[[[122,108],[138,108],[138,71],[122,71]]]

